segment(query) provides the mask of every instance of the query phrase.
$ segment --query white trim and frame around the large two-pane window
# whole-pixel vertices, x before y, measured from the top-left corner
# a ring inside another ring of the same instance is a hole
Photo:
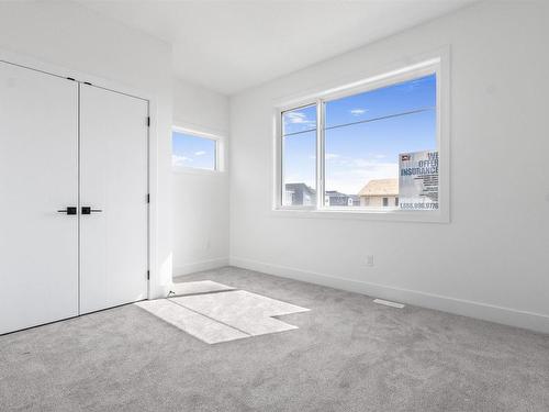
[[[437,76],[437,147],[439,163],[439,209],[436,211],[406,211],[397,208],[337,208],[325,207],[324,198],[324,102],[378,89],[384,86],[411,80],[422,75]],[[274,108],[274,164],[273,164],[273,202],[271,213],[283,218],[323,218],[323,219],[359,219],[374,221],[405,221],[448,223],[450,221],[450,136],[449,136],[449,51],[442,49],[436,57],[424,59],[417,64],[370,76],[366,79],[347,83],[343,87],[309,94],[302,99],[294,98]],[[316,104],[316,205],[283,205],[282,204],[282,113],[301,107]]]

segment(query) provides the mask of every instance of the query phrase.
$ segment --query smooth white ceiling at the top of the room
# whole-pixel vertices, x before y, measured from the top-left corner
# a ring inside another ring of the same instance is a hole
[[[173,45],[177,77],[236,93],[475,0],[78,0]]]

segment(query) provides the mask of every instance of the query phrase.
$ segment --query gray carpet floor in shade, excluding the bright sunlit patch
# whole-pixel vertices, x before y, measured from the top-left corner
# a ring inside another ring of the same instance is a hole
[[[136,305],[0,337],[0,411],[549,411],[549,336],[237,268],[310,308],[208,345]]]

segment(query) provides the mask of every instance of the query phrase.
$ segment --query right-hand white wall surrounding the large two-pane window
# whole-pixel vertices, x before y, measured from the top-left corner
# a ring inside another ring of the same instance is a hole
[[[549,332],[548,38],[549,3],[480,3],[233,97],[232,264]],[[451,223],[270,212],[274,101],[445,45]]]

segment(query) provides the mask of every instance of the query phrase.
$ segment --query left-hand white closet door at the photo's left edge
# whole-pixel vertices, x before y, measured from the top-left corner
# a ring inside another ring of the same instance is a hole
[[[78,315],[78,83],[0,62],[0,334]]]

